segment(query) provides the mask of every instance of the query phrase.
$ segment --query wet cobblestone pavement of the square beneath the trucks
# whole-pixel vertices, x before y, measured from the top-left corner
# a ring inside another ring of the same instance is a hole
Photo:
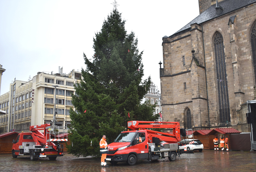
[[[85,171],[85,172],[255,172],[256,153],[231,151],[221,152],[203,150],[194,154],[182,154],[176,161],[168,158],[157,161],[140,160],[134,166],[125,162],[109,167],[101,167],[100,159],[77,158],[66,153],[54,161],[48,158],[40,158],[38,161],[30,161],[29,156],[12,158],[11,154],[0,154],[0,171]]]

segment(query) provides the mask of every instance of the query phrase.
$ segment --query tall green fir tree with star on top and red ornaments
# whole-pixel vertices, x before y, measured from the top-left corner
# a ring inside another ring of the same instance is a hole
[[[155,105],[141,103],[150,87],[150,76],[144,76],[142,54],[134,32],[127,34],[126,21],[121,13],[113,10],[104,20],[102,29],[93,39],[94,55],[84,54],[86,69],[82,80],[76,84],[76,95],[71,109],[71,129],[67,146],[76,156],[99,156],[99,141],[106,135],[107,143],[113,142],[127,121],[155,121]]]

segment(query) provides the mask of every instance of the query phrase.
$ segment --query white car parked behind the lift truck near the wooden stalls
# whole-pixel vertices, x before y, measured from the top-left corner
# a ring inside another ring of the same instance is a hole
[[[199,152],[202,152],[204,149],[204,145],[202,144],[202,142],[200,142],[200,140],[197,140],[197,139],[185,139],[178,143],[182,145],[182,146],[179,146],[179,149],[184,149],[186,144],[187,151],[198,150]]]

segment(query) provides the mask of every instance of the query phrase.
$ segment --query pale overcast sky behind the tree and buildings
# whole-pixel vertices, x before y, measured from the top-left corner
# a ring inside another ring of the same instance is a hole
[[[93,37],[113,9],[114,0],[0,0],[1,95],[16,80],[37,72],[63,73],[85,68]],[[170,36],[199,15],[198,0],[116,0],[128,33],[135,32],[143,53],[144,79],[160,89],[162,37]]]

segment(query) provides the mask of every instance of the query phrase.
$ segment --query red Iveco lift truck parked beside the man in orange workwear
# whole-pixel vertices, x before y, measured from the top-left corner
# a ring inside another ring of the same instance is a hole
[[[128,121],[131,131],[121,132],[113,143],[108,145],[106,160],[111,164],[127,162],[136,164],[138,159],[157,160],[166,158],[175,161],[179,153],[179,122]],[[171,128],[173,134],[148,130],[148,128]],[[161,148],[161,141],[165,141]]]

